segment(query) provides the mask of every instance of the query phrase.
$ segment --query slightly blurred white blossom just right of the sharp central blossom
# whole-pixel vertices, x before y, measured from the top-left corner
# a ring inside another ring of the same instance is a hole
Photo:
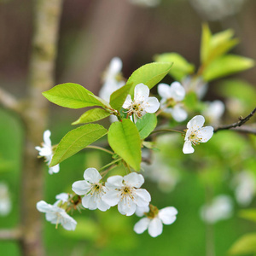
[[[163,112],[171,113],[173,119],[177,122],[187,119],[188,113],[180,103],[186,94],[182,84],[178,82],[173,82],[171,85],[159,84],[157,90],[158,94],[162,97],[160,108],[163,109]]]

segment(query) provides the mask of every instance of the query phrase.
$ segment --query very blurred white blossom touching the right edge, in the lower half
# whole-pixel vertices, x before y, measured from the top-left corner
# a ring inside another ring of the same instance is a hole
[[[236,201],[247,207],[256,194],[256,178],[251,172],[243,171],[236,174],[232,181],[235,186]]]

